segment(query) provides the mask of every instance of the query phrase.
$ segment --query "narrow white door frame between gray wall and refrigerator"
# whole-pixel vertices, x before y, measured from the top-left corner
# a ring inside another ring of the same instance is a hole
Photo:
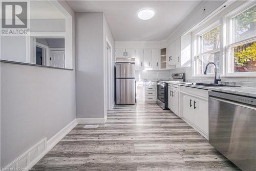
[[[109,49],[109,51],[108,51]],[[109,54],[108,54],[109,53]],[[113,109],[114,92],[114,67],[113,67],[113,46],[106,37],[106,108]]]

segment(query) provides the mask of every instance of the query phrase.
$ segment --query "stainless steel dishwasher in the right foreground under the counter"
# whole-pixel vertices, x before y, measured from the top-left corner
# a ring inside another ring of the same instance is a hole
[[[209,143],[242,170],[255,170],[256,98],[209,91]]]

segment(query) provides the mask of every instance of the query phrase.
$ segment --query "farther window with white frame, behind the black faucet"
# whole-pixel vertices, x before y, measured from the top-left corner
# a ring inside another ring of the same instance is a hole
[[[196,61],[196,74],[203,74],[208,62],[215,62],[217,72],[220,68],[220,26],[212,28],[198,37],[198,54]],[[207,73],[214,74],[215,66],[209,65]]]

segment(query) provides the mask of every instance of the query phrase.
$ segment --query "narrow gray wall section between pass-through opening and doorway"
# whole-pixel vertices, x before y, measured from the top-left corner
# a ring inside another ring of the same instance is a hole
[[[103,13],[76,12],[76,117],[103,118]]]

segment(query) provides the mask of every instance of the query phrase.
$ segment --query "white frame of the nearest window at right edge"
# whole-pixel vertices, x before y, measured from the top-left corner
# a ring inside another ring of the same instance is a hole
[[[223,29],[223,44],[224,44],[224,76],[226,77],[256,77],[256,71],[248,71],[248,72],[234,72],[234,58],[231,56],[231,48],[234,46],[250,43],[256,41],[256,35],[244,40],[240,40],[234,42],[233,36],[233,28],[232,28],[232,18],[236,17],[237,15],[243,13],[244,11],[248,10],[249,8],[255,6],[255,2],[246,2],[240,6],[234,8],[231,12],[223,16],[223,25],[226,25],[226,28]]]

